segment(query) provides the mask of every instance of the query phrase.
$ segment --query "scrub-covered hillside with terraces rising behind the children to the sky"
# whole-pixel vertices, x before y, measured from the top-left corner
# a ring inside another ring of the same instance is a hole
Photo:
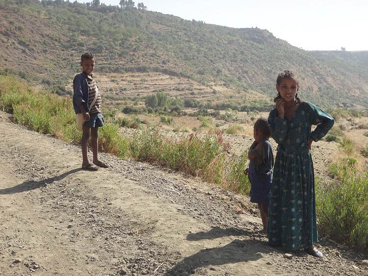
[[[93,51],[96,74],[106,80],[99,84],[110,87],[115,100],[133,97],[138,86],[134,97],[156,92],[163,74],[176,78],[164,92],[208,107],[268,105],[278,72],[290,68],[300,75],[302,99],[321,107],[368,107],[367,52],[305,51],[267,30],[96,2],[0,0],[0,19],[0,72],[58,94],[71,93],[81,52]],[[132,81],[134,74],[139,81]],[[190,93],[194,87],[199,93]]]

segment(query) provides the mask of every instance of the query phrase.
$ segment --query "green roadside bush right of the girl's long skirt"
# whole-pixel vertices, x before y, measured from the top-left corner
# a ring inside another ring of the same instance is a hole
[[[368,249],[368,172],[357,173],[348,162],[338,166],[332,185],[316,181],[319,232],[358,250]]]

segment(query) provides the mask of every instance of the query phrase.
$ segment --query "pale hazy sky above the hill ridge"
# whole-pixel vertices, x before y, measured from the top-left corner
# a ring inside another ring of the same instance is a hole
[[[141,2],[187,20],[266,29],[304,50],[368,50],[368,0],[136,0],[135,6]]]

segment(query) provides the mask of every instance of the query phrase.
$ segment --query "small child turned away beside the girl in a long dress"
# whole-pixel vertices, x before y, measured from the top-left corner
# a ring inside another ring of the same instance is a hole
[[[248,151],[249,168],[244,170],[251,183],[250,202],[258,203],[261,212],[263,229],[261,234],[267,233],[267,215],[270,200],[269,191],[272,183],[273,153],[268,139],[271,132],[267,118],[261,117],[253,127],[254,142]]]

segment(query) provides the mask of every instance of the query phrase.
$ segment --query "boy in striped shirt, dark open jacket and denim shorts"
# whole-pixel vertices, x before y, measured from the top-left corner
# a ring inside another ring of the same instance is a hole
[[[108,168],[109,165],[98,159],[98,128],[104,126],[104,117],[101,115],[101,96],[98,92],[96,81],[92,77],[95,67],[93,53],[83,53],[80,57],[80,66],[83,72],[76,75],[73,80],[73,107],[76,114],[82,113],[85,120],[82,134],[82,168],[97,171],[101,168]],[[93,162],[91,163],[87,155],[88,139],[91,137],[93,152]]]

